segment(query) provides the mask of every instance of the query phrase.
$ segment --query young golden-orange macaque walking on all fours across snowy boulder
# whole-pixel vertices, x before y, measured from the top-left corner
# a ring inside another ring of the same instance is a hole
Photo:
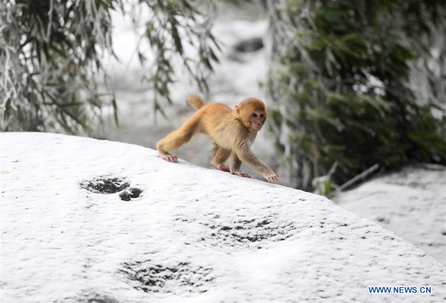
[[[240,171],[245,162],[271,183],[277,183],[279,176],[250,151],[250,146],[262,128],[267,117],[265,104],[256,98],[248,98],[235,105],[235,109],[223,103],[206,103],[197,94],[190,94],[187,106],[198,110],[176,131],[157,142],[160,156],[169,162],[178,162],[171,154],[197,133],[204,133],[214,141],[211,164],[216,169],[240,177],[251,178]],[[224,162],[231,156],[229,167]]]

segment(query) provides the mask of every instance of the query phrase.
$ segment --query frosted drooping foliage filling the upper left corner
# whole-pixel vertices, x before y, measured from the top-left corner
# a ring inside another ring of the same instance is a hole
[[[2,1],[1,130],[74,133],[86,128],[89,113],[98,117],[102,94],[90,79],[102,68],[99,52],[111,47],[115,5]]]

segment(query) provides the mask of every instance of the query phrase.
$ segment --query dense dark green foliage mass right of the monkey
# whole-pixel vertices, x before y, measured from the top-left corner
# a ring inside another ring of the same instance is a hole
[[[271,129],[293,185],[311,189],[334,163],[337,184],[376,163],[445,163],[445,113],[435,118],[433,104],[421,105],[408,87],[409,63],[423,55],[413,45],[444,6],[307,0],[273,7],[275,39],[290,42],[276,49],[280,67],[269,88],[281,106]]]

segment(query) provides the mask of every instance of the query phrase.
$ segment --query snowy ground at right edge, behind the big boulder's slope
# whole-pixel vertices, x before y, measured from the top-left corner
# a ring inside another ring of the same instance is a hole
[[[446,167],[406,167],[341,193],[335,202],[446,263]]]

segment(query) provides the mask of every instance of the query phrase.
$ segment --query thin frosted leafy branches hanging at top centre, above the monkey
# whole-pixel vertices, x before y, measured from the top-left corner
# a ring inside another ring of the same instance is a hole
[[[176,58],[179,58],[189,75],[195,80],[202,92],[208,93],[207,78],[213,71],[212,62],[218,62],[216,49],[220,50],[216,38],[211,33],[212,16],[202,13],[196,5],[207,4],[209,11],[215,11],[213,1],[194,0],[140,0],[134,3],[133,10],[141,14],[141,9],[149,8],[153,18],[146,21],[142,27],[156,60],[147,68],[149,72],[145,79],[154,87],[153,105],[155,110],[163,112],[161,101],[170,100],[169,85],[174,82]],[[144,7],[144,5],[146,7]],[[134,26],[140,26],[139,20],[134,18]],[[185,48],[195,50],[187,55]],[[147,65],[147,59],[138,50],[142,65]]]

